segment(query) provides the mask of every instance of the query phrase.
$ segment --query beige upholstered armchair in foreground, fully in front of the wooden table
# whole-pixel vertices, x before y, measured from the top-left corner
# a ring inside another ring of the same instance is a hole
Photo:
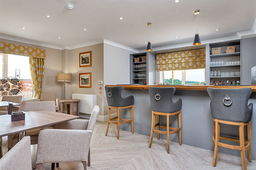
[[[54,129],[40,130],[36,169],[41,170],[43,163],[53,162],[82,162],[86,169],[87,157],[88,166],[90,166],[89,147],[99,111],[100,108],[96,105],[92,110],[90,120],[75,119],[56,124],[53,126]],[[54,168],[55,166],[52,165],[52,169]]]

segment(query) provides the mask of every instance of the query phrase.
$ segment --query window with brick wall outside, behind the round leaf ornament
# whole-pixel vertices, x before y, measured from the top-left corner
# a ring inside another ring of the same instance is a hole
[[[33,85],[29,69],[29,57],[0,53],[0,79],[16,77],[21,80],[23,97],[33,97]],[[0,97],[2,97],[0,95]]]

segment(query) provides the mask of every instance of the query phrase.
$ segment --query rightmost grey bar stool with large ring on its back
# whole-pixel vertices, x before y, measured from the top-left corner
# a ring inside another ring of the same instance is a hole
[[[216,166],[219,146],[240,150],[243,169],[246,168],[245,151],[248,150],[249,162],[252,162],[251,149],[251,118],[252,103],[248,104],[248,99],[252,94],[251,88],[239,89],[217,89],[207,88],[211,99],[211,116],[213,117],[213,143],[214,155],[213,166]],[[220,136],[220,123],[239,126],[239,139]],[[244,140],[244,126],[247,125],[248,140]],[[240,146],[228,145],[219,142],[219,139],[239,142]],[[244,143],[247,144],[244,146]]]

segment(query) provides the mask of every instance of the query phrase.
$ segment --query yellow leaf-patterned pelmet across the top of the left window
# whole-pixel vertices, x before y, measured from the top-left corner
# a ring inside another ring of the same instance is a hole
[[[0,53],[45,59],[45,50],[6,42],[0,42]]]

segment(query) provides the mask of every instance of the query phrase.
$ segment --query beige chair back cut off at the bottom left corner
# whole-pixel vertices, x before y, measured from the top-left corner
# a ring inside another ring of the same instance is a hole
[[[0,159],[0,169],[32,169],[30,137],[23,137]]]

